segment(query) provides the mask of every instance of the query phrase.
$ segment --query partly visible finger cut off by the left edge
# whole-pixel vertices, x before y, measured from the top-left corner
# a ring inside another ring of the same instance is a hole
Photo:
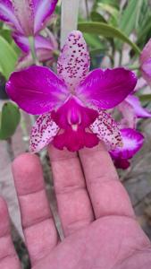
[[[10,221],[7,205],[0,197],[0,268],[21,269],[11,237]]]

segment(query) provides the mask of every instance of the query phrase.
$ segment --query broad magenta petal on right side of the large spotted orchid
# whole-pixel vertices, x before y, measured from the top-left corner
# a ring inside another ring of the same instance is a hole
[[[84,103],[108,109],[121,103],[136,83],[136,75],[124,68],[96,69],[88,74],[76,93]]]

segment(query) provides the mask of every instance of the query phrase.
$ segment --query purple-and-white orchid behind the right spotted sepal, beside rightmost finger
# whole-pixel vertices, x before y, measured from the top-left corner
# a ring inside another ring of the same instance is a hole
[[[128,169],[130,159],[140,150],[144,142],[143,134],[130,128],[121,129],[122,147],[116,147],[110,154],[116,168]]]

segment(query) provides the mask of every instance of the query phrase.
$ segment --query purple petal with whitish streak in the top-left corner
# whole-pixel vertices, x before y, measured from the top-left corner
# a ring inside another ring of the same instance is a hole
[[[22,31],[21,25],[14,15],[13,4],[10,0],[0,0],[0,20],[6,22],[13,30]]]

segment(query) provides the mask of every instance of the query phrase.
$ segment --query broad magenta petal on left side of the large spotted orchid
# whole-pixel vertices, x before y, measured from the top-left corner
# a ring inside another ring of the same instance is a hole
[[[6,84],[6,91],[23,110],[35,115],[59,107],[70,94],[52,71],[36,65],[14,72]]]

